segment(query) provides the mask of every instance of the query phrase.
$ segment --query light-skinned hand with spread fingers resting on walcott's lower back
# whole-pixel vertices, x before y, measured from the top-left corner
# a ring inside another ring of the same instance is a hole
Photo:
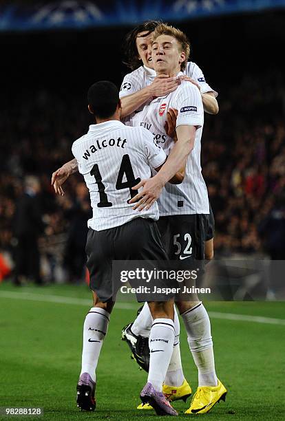
[[[138,209],[139,211],[148,210],[158,199],[164,185],[158,175],[147,180],[141,180],[136,186],[132,187],[132,190],[138,190],[138,188],[143,187],[142,191],[132,197],[129,203],[136,202],[133,209]]]

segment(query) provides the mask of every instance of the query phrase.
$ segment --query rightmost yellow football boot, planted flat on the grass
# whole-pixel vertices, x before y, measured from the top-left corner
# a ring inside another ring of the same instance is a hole
[[[226,400],[226,388],[218,379],[218,386],[198,387],[185,413],[207,413],[221,399]]]

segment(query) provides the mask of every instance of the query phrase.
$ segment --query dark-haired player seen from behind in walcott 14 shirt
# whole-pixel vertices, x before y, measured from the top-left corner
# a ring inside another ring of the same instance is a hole
[[[84,322],[82,368],[77,385],[78,407],[93,411],[95,371],[114,306],[112,260],[168,259],[156,227],[157,204],[142,213],[129,204],[129,199],[138,193],[132,187],[150,177],[151,168],[159,171],[167,156],[147,129],[126,127],[120,122],[120,100],[113,83],[94,83],[87,98],[97,124],[90,125],[89,131],[73,143],[72,153],[89,189],[93,210],[86,251],[94,304]],[[182,182],[183,172],[176,173],[171,182]],[[149,308],[154,319],[150,332],[153,352],[147,384],[140,397],[158,415],[178,415],[162,393],[175,337],[173,300],[151,302]]]

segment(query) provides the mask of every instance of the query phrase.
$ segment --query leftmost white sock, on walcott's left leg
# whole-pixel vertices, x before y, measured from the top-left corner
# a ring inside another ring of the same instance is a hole
[[[103,308],[92,307],[85,317],[81,374],[88,373],[94,382],[98,358],[107,334],[109,316],[110,314]]]

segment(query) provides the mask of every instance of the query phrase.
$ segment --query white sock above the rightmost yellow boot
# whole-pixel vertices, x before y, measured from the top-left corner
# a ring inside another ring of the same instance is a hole
[[[181,314],[187,330],[188,343],[193,360],[198,368],[200,386],[217,386],[211,323],[202,303]]]

